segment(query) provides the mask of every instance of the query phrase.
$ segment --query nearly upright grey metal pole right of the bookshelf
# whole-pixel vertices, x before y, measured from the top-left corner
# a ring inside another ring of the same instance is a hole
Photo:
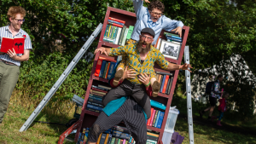
[[[185,46],[184,59],[185,59],[184,63],[189,64],[189,46]],[[191,84],[190,84],[190,72],[189,71],[185,71],[185,77],[186,77],[187,110],[188,110],[188,124],[189,124],[189,143],[194,144],[192,102],[191,102]]]

